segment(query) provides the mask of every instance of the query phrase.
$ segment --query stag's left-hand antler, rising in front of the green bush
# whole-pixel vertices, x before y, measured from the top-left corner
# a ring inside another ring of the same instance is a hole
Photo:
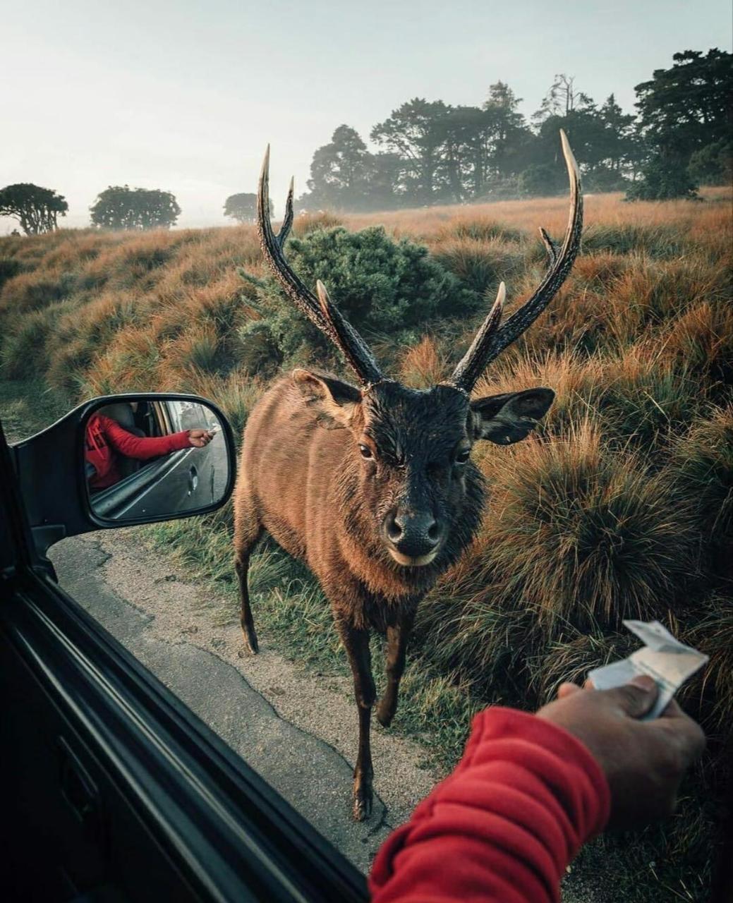
[[[316,298],[301,279],[292,272],[290,265],[285,260],[283,247],[292,226],[292,190],[291,179],[288,198],[285,201],[283,225],[275,235],[273,224],[270,222],[270,145],[268,144],[257,189],[257,232],[265,260],[295,306],[340,350],[348,365],[357,374],[359,382],[363,386],[374,385],[381,381],[382,374],[366,342],[357,330],[344,320],[339,309],[330,301],[323,284],[319,281],[319,297]]]

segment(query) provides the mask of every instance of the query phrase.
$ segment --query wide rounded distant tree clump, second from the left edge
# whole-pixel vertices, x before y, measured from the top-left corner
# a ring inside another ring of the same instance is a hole
[[[97,228],[171,228],[181,208],[170,191],[112,186],[97,195],[91,221]]]

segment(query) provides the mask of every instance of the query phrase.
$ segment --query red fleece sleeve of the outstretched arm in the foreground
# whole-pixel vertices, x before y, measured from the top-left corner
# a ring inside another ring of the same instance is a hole
[[[372,903],[548,903],[608,822],[608,782],[580,740],[499,706],[455,771],[376,854]]]

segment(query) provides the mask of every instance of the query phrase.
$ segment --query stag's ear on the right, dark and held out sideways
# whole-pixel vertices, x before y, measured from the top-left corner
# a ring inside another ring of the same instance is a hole
[[[474,437],[497,445],[526,439],[537,421],[547,414],[554,397],[552,389],[538,388],[477,398],[471,402]]]

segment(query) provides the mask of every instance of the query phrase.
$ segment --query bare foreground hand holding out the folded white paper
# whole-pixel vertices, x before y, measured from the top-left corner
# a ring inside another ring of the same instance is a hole
[[[584,743],[608,779],[608,827],[629,829],[671,815],[685,771],[705,748],[705,735],[673,700],[654,721],[638,721],[657,687],[640,675],[613,690],[561,684],[558,698],[537,712]]]

